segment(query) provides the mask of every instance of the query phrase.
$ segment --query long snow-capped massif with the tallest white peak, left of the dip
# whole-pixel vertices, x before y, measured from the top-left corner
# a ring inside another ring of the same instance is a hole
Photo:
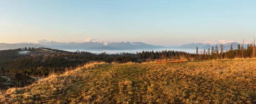
[[[109,42],[92,38],[87,38],[83,42],[56,42],[51,40],[39,40],[32,42],[23,42],[22,44],[38,44],[55,49],[104,49],[104,50],[125,50],[125,49],[157,49],[165,48],[162,46],[154,46],[142,42]]]

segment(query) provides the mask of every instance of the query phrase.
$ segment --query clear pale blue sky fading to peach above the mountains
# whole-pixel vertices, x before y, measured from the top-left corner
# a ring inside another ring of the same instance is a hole
[[[0,0],[0,43],[252,41],[256,0]]]

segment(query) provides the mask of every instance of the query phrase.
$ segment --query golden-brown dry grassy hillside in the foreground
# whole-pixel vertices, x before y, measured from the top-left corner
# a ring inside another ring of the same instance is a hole
[[[256,103],[256,59],[97,63],[0,94],[0,103]]]

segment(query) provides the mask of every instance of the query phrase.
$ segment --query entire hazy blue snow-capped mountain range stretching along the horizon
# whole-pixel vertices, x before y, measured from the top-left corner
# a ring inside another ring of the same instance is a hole
[[[245,42],[244,47],[247,47],[247,44],[250,42]],[[198,46],[199,49],[208,49],[215,47],[216,45],[224,45],[224,49],[230,49],[231,44],[233,44],[233,49],[237,49],[239,43],[234,41],[226,40],[213,40],[213,41],[201,41],[191,44],[183,44],[181,46],[172,46],[168,47],[171,49],[196,49]],[[15,44],[6,44],[0,43],[0,49],[15,49],[22,47],[46,47],[54,49],[87,49],[87,50],[133,50],[133,49],[163,49],[167,47],[155,46],[150,44],[145,44],[142,42],[109,42],[109,41],[100,41],[92,38],[87,38],[83,42],[56,42],[51,40],[39,40],[32,42],[21,42]]]

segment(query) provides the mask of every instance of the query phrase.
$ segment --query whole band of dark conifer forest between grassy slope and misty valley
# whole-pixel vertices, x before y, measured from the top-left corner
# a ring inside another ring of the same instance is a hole
[[[119,53],[119,54],[93,54],[77,50],[76,52],[67,52],[58,49],[39,48],[49,51],[38,51],[33,47],[24,47],[20,49],[0,50],[0,68],[2,73],[23,73],[33,77],[45,77],[51,72],[64,72],[91,62],[105,63],[142,63],[154,60],[221,60],[234,58],[253,58],[256,48],[253,44],[247,44],[247,47],[239,44],[237,49],[224,48],[221,44],[212,49],[198,50],[195,53],[180,52],[173,50],[163,51],[143,51],[137,54]],[[226,50],[224,50],[226,49]],[[29,51],[29,55],[19,55],[18,52]]]

